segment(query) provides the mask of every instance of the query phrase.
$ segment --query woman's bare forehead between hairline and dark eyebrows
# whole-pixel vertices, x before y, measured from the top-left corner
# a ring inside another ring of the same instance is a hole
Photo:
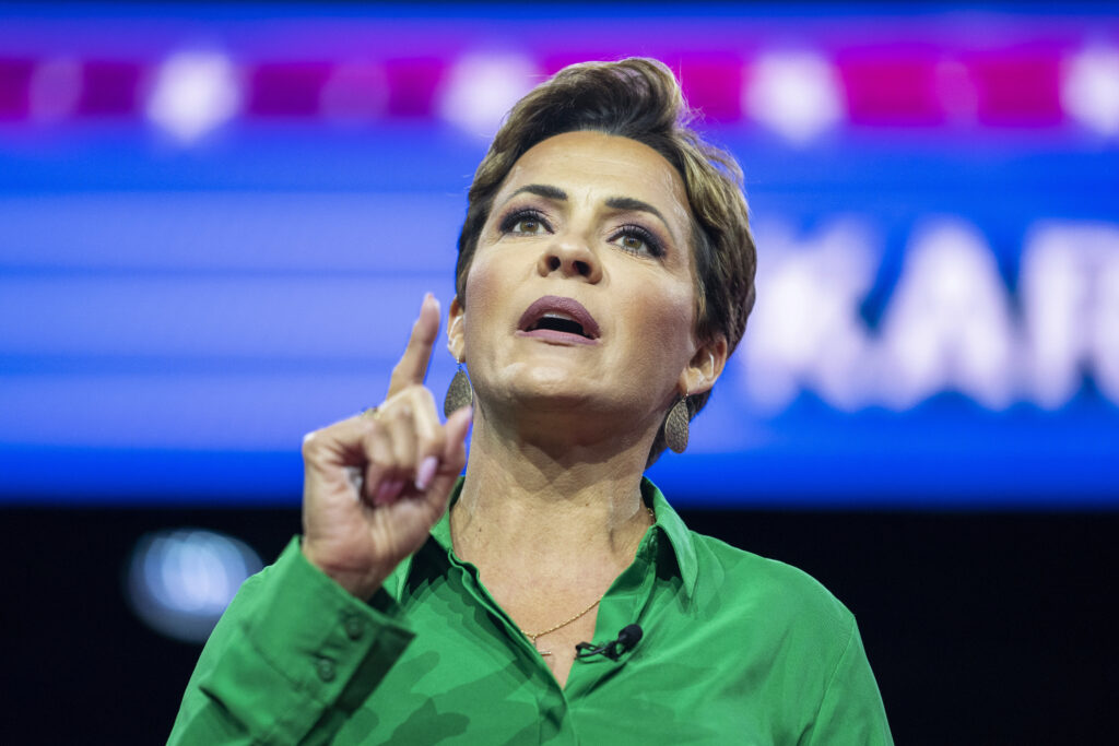
[[[538,142],[514,164],[498,199],[527,183],[556,186],[592,199],[640,199],[678,220],[681,229],[690,219],[680,174],[664,155],[629,138],[565,132]]]

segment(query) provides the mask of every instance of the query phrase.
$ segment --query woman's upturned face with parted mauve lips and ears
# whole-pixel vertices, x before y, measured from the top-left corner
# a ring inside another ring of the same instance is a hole
[[[651,418],[709,387],[689,365],[690,226],[679,174],[648,145],[570,132],[532,148],[479,236],[466,311],[452,305],[451,351],[476,391]]]

